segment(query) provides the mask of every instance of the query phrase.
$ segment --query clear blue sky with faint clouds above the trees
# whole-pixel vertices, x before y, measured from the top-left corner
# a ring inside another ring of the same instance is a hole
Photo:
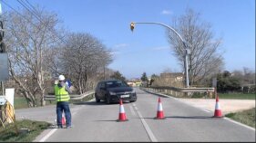
[[[4,0],[14,8],[15,0]],[[162,71],[181,71],[171,54],[166,29],[158,22],[172,25],[172,18],[185,14],[187,8],[200,13],[200,19],[212,25],[214,39],[222,38],[220,51],[224,70],[255,71],[255,1],[254,0],[27,0],[52,11],[71,32],[91,33],[113,50],[114,62],[108,68],[120,71],[127,79]],[[1,3],[1,1],[0,1]],[[2,11],[9,8],[2,4]]]

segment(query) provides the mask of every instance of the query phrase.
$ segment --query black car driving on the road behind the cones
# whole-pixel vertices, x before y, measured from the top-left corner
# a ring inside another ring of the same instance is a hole
[[[97,102],[105,100],[108,104],[118,102],[119,99],[134,102],[137,100],[137,94],[125,81],[99,81],[95,91],[95,99]]]

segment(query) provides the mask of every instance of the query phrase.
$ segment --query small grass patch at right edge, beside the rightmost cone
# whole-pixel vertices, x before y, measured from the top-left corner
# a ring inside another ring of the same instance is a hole
[[[234,119],[255,129],[255,108],[251,110],[243,110],[240,112],[229,113],[226,114],[225,117]]]

